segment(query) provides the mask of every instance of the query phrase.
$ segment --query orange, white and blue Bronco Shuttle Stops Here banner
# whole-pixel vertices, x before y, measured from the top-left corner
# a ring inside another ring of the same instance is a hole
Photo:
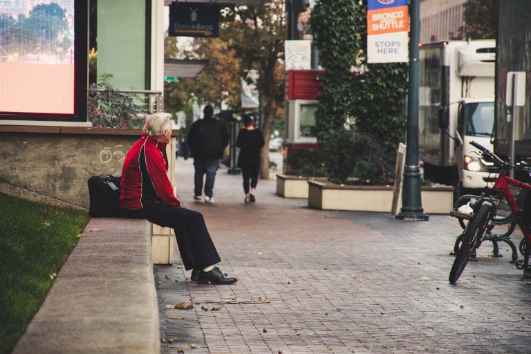
[[[409,61],[407,0],[367,3],[367,62]]]

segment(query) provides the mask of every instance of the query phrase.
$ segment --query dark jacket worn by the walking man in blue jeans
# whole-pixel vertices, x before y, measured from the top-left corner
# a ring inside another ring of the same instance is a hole
[[[188,133],[188,146],[197,160],[223,158],[223,150],[229,142],[229,129],[224,122],[205,117],[196,120]]]

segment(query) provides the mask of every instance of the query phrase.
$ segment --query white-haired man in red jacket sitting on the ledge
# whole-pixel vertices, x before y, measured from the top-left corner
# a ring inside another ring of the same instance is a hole
[[[120,181],[122,216],[147,218],[174,229],[180,257],[190,279],[198,283],[230,284],[216,263],[221,261],[205,225],[203,214],[186,209],[174,195],[167,177],[166,145],[171,140],[171,115],[148,115],[140,139],[129,149]]]

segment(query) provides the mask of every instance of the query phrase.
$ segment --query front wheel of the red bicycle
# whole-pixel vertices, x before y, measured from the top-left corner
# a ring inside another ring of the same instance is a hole
[[[490,208],[490,205],[482,204],[472,217],[472,220],[468,223],[467,228],[463,233],[463,242],[460,245],[459,252],[456,254],[454,265],[451,266],[450,276],[448,277],[450,283],[453,284],[459,279],[470,256],[474,250],[476,250],[478,241],[483,237],[483,232],[485,232],[485,229],[487,228]]]

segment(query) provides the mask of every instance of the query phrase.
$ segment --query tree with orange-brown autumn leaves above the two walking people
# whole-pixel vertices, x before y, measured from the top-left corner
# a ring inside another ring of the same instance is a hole
[[[190,93],[201,103],[225,104],[239,110],[240,80],[245,71],[259,71],[257,88],[261,96],[263,137],[261,178],[269,178],[268,142],[272,124],[283,113],[283,48],[286,37],[286,17],[283,0],[272,0],[261,6],[237,6],[234,21],[223,23],[218,39],[196,39],[194,49],[176,53],[171,43],[168,53],[207,59],[205,71],[193,80],[168,84],[165,106],[178,109],[185,106]],[[232,15],[231,15],[232,17]]]

